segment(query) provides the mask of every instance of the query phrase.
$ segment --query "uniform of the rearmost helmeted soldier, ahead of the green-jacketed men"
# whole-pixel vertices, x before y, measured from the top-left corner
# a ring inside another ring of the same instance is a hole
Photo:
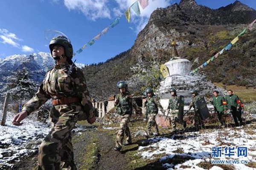
[[[201,126],[204,128],[204,122],[201,118],[200,113],[198,112],[198,107],[196,105],[196,102],[201,98],[201,96],[196,95],[195,97],[192,98],[190,104],[189,104],[189,110],[193,107],[195,110],[195,116],[194,116],[194,120],[195,120],[195,128],[196,130],[201,129]]]

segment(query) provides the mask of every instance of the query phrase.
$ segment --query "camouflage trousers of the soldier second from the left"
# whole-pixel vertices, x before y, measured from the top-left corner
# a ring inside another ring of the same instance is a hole
[[[125,142],[131,143],[131,133],[128,127],[128,122],[130,121],[131,115],[123,115],[121,117],[121,123],[119,126],[118,133],[116,134],[116,147],[121,148],[123,144],[123,140],[125,138]]]

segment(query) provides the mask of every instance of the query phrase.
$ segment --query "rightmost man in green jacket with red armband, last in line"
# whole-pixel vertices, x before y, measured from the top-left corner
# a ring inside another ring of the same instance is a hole
[[[241,101],[237,95],[233,95],[232,90],[228,90],[228,95],[225,96],[227,101],[227,106],[234,118],[235,125],[239,126],[237,119],[240,121],[240,125],[244,125],[244,122],[241,118],[241,114],[239,113],[239,109],[243,110],[243,105],[241,105]],[[241,107],[242,106],[242,107]]]

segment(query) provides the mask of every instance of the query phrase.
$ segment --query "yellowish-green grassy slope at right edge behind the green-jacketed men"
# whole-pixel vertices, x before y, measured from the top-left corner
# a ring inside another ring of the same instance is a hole
[[[245,86],[236,86],[236,85],[228,85],[225,86],[222,83],[214,83],[216,86],[222,87],[224,89],[233,90],[235,95],[238,95],[239,98],[245,102],[256,101],[256,89],[253,87],[245,87]]]

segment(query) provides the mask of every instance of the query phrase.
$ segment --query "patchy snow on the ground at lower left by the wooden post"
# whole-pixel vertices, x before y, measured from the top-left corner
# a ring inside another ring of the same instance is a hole
[[[0,126],[0,169],[12,167],[15,161],[37,152],[38,145],[35,143],[42,141],[50,130],[47,124],[29,118],[22,121],[23,125],[15,126],[12,124],[13,117],[12,112],[7,112],[6,126]]]

